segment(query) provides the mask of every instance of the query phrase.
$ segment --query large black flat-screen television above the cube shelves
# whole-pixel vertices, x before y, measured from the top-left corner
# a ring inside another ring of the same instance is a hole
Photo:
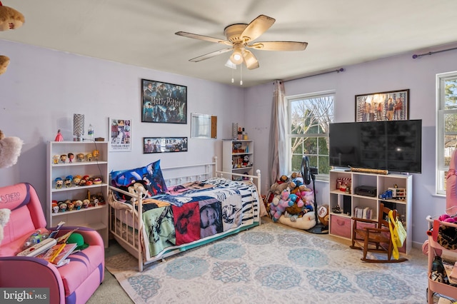
[[[330,166],[421,173],[422,120],[330,123]]]

